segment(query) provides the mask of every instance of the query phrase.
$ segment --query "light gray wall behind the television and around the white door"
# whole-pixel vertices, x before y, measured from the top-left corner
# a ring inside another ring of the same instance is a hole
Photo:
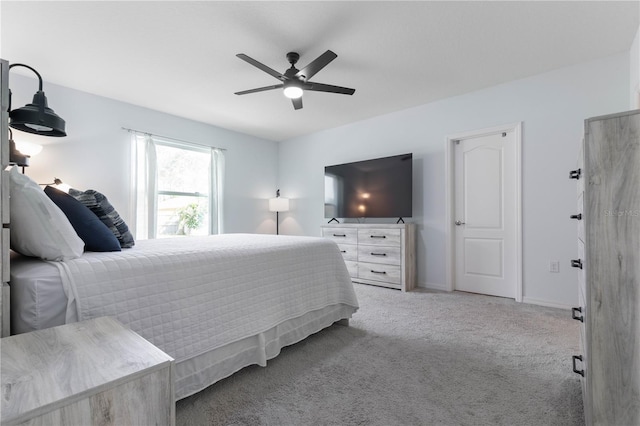
[[[324,166],[413,152],[418,281],[444,288],[445,138],[522,122],[524,301],[573,305],[576,188],[568,173],[584,119],[628,106],[626,53],[282,142],[278,179],[292,210],[281,232],[320,234]],[[550,260],[560,261],[560,273],[549,272]]]

